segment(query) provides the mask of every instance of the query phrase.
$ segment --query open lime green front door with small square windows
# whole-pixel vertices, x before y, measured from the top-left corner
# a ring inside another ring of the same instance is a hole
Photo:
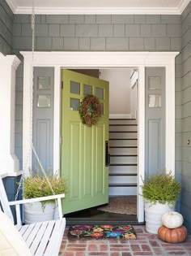
[[[66,214],[108,202],[108,81],[62,70],[62,82],[61,175],[68,184],[62,203]],[[99,98],[103,110],[91,127],[82,124],[79,115],[79,104],[87,94]]]

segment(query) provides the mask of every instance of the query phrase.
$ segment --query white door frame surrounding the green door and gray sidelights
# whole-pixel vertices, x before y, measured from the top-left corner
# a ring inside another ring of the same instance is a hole
[[[179,52],[28,52],[23,55],[23,171],[32,166],[33,67],[54,67],[53,170],[60,169],[61,69],[138,68],[138,222],[144,221],[145,67],[166,70],[166,169],[175,172],[175,57]]]

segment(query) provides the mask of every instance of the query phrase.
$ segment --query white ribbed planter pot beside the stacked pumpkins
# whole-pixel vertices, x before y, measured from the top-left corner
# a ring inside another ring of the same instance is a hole
[[[145,202],[146,231],[157,234],[159,227],[162,225],[163,214],[172,210],[175,210],[175,205]]]

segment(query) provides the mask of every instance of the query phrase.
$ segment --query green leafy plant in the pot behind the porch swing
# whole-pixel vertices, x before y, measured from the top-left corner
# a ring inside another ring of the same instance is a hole
[[[40,175],[40,171],[33,173],[29,169],[29,176],[23,177],[23,197],[25,199],[36,198],[36,197],[45,197],[54,194],[66,193],[66,179],[64,177],[58,177],[57,173],[54,175],[47,175],[49,183],[51,184],[52,189],[49,186],[45,176]],[[45,201],[53,202],[51,200]],[[42,206],[45,206],[44,202],[41,202]]]

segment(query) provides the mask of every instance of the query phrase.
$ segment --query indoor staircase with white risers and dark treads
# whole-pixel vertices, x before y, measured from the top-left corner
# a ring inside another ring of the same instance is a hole
[[[108,194],[137,195],[138,124],[136,119],[109,119]]]

